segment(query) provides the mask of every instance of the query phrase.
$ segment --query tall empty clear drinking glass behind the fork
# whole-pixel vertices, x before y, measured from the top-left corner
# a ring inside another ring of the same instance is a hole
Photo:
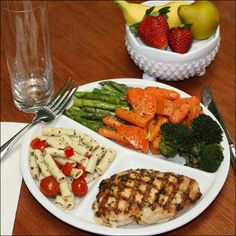
[[[16,107],[34,113],[53,94],[45,1],[1,1],[3,46]]]

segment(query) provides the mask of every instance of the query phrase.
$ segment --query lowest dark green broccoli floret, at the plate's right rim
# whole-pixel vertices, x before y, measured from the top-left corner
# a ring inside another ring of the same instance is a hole
[[[214,143],[203,146],[198,168],[208,172],[215,172],[224,159],[223,148],[221,145]]]

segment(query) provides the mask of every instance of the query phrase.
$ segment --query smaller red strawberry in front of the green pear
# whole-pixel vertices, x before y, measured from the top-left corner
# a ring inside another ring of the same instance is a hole
[[[172,28],[169,33],[169,46],[173,52],[184,54],[189,51],[193,35],[186,27]]]

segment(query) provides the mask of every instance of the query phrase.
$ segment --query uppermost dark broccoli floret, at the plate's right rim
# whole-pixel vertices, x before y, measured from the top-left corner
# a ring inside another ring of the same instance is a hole
[[[201,114],[193,119],[191,124],[196,142],[208,145],[222,141],[223,131],[210,116]]]

